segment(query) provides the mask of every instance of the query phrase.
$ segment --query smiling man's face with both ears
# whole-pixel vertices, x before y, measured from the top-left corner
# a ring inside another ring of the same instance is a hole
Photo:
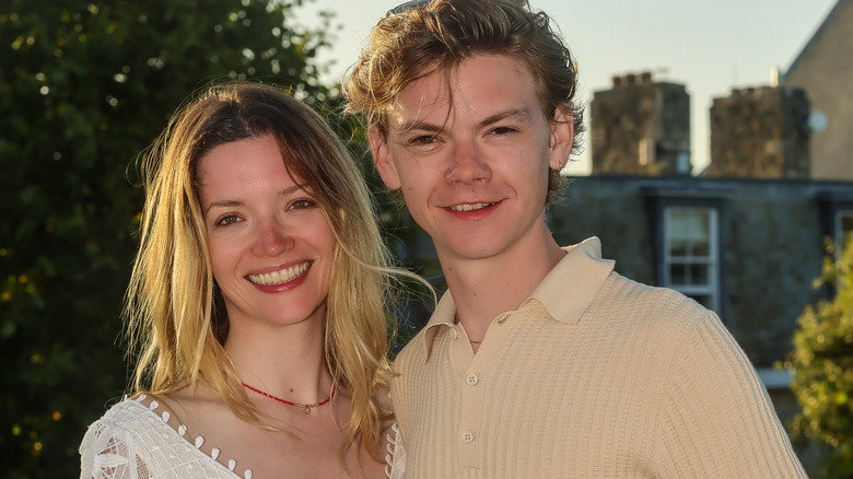
[[[525,66],[477,55],[407,86],[386,135],[371,128],[371,150],[443,262],[484,259],[541,235],[548,170],[572,145],[571,116],[554,119],[542,115]]]

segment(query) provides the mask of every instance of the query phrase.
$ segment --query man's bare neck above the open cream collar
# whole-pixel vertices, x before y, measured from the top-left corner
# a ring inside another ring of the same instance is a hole
[[[440,253],[456,320],[472,341],[482,340],[492,319],[516,309],[563,256],[548,232],[536,244],[519,245],[488,259],[452,258]]]

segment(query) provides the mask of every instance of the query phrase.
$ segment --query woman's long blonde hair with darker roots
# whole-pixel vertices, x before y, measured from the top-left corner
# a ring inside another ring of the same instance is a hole
[[[325,358],[337,387],[352,398],[342,451],[357,440],[375,456],[385,414],[375,392],[389,378],[385,307],[393,274],[410,274],[390,267],[346,148],[319,115],[272,86],[210,87],[175,115],[142,157],[147,198],[125,306],[128,354],[137,359],[131,392],[163,395],[203,383],[237,417],[260,424],[262,414],[223,349],[229,318],[213,279],[196,175],[212,149],[265,136],[277,140],[290,172],[311,187],[337,240]]]

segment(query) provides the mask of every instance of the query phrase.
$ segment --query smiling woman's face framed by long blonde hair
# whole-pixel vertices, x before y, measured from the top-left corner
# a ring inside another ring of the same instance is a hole
[[[244,325],[322,322],[335,236],[308,186],[289,173],[276,140],[214,148],[199,161],[198,185],[230,335]]]

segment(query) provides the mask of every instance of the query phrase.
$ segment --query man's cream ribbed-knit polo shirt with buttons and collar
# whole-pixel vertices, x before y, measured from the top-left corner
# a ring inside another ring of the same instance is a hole
[[[477,354],[449,293],[400,352],[407,478],[806,477],[714,313],[564,249]]]

